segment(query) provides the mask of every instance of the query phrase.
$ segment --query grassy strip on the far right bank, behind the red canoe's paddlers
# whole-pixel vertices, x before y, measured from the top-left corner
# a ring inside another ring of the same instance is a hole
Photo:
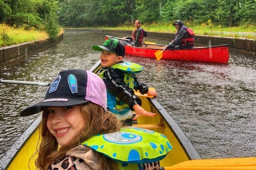
[[[224,27],[221,25],[216,26],[211,22],[211,20],[208,20],[207,23],[201,23],[201,24],[185,23],[185,26],[193,29],[197,35],[229,36],[229,37],[236,37],[236,38],[245,37],[249,39],[256,39],[256,26],[254,25]],[[134,25],[130,24],[130,26],[123,25],[123,26],[117,26],[117,27],[102,26],[97,28],[98,29],[133,30]],[[142,24],[142,28],[145,29],[145,31],[176,33],[176,29],[172,25],[172,23]],[[247,33],[243,34],[241,32],[247,32]]]

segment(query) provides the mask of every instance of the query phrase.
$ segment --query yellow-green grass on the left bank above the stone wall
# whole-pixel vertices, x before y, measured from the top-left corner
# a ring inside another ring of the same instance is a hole
[[[25,30],[24,27],[18,28],[15,25],[0,24],[0,45],[2,47],[47,38],[49,36],[45,31],[38,31],[33,28]]]

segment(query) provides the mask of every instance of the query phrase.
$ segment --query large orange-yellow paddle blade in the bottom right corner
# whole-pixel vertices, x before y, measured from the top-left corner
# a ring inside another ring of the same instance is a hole
[[[165,170],[253,170],[256,158],[198,159],[165,167]]]

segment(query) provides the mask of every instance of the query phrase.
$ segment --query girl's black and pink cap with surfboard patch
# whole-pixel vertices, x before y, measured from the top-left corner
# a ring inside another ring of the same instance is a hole
[[[68,107],[95,103],[107,110],[107,91],[103,80],[87,70],[62,70],[46,91],[44,100],[27,107],[20,116],[29,116],[47,107]]]

